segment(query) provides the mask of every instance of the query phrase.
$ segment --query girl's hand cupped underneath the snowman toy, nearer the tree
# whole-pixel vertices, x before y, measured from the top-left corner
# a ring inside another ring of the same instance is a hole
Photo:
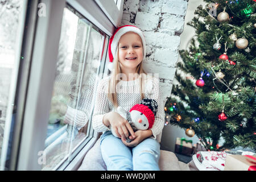
[[[135,131],[135,139],[133,141],[131,141],[130,143],[127,143],[126,139],[122,138],[122,142],[128,147],[135,147],[139,143],[141,143],[144,139],[151,137],[151,135],[152,135],[151,130],[138,130],[138,131]],[[131,136],[129,138],[133,139]]]

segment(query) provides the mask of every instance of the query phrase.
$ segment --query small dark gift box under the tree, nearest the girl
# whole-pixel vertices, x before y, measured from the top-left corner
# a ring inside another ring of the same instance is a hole
[[[191,156],[192,154],[192,140],[187,140],[185,138],[177,138],[175,144],[175,152],[177,154],[183,154]]]

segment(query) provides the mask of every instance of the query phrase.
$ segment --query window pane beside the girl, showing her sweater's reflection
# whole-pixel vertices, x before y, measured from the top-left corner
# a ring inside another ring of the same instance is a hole
[[[71,160],[72,152],[88,137],[106,37],[96,29],[75,10],[64,9],[43,170]]]

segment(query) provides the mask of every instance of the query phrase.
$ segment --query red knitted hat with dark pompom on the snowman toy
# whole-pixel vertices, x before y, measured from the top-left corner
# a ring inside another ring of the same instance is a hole
[[[148,129],[151,129],[151,127],[155,122],[155,114],[156,114],[157,107],[158,105],[156,104],[155,100],[144,98],[141,101],[141,104],[136,104],[133,107],[131,107],[130,112],[133,110],[137,110],[142,114],[144,114],[148,121]]]

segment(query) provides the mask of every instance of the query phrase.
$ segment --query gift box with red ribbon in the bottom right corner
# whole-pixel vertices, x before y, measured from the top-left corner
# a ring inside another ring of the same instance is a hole
[[[227,155],[224,171],[256,171],[256,155]]]

